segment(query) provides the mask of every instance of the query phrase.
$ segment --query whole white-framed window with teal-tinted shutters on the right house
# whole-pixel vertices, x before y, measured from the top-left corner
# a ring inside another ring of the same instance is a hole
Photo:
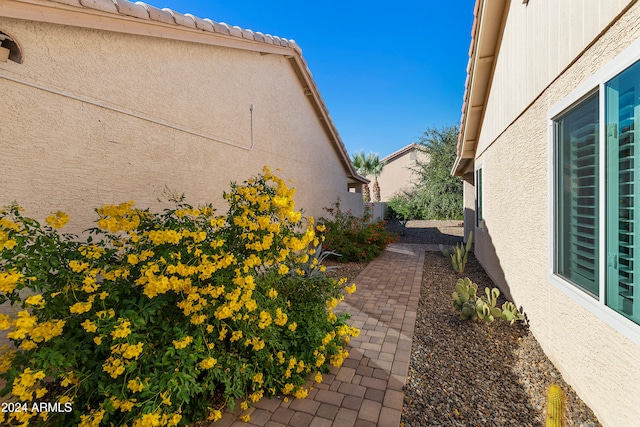
[[[640,325],[640,61],[629,62],[614,61],[550,114],[552,277],[627,330],[620,316]]]

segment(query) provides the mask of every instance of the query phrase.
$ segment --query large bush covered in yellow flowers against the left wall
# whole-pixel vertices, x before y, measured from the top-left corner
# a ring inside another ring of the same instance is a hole
[[[0,315],[16,347],[0,351],[16,409],[0,423],[181,426],[305,397],[359,331],[333,313],[355,285],[317,274],[323,227],[294,192],[265,169],[231,185],[226,215],[107,205],[84,239],[58,231],[63,212],[2,211],[0,302],[20,310]]]

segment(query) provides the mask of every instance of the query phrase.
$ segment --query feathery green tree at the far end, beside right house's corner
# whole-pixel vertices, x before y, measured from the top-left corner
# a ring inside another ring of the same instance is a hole
[[[462,218],[462,180],[451,175],[456,160],[458,126],[429,128],[418,141],[418,149],[427,155],[416,160],[416,199],[426,219]]]

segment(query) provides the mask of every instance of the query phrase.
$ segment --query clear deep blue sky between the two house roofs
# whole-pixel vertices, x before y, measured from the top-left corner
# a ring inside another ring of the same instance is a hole
[[[349,153],[459,123],[475,0],[146,2],[294,39]]]

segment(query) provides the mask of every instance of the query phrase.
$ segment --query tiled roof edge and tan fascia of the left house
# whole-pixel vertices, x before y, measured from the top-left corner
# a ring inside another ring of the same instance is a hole
[[[51,13],[43,13],[42,7],[51,8]],[[75,14],[70,18],[69,14],[54,13],[56,10],[71,11]],[[0,3],[0,16],[211,44],[256,51],[265,55],[283,55],[293,67],[304,94],[310,98],[318,120],[348,171],[349,181],[368,182],[353,168],[311,71],[302,57],[302,49],[294,40],[126,0],[3,0]]]

